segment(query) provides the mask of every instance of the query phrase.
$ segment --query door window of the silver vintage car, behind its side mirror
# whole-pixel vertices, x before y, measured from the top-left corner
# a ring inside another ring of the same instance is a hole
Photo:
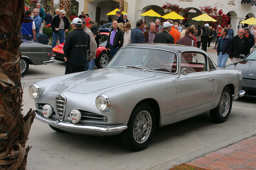
[[[196,52],[184,52],[180,55],[180,70],[188,69],[188,73],[207,71],[207,57]]]

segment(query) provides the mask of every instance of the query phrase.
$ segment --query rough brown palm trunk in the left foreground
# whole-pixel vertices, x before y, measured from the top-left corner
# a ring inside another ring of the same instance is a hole
[[[23,116],[18,35],[24,0],[1,0],[0,10],[0,169],[26,169],[25,149],[35,111]]]

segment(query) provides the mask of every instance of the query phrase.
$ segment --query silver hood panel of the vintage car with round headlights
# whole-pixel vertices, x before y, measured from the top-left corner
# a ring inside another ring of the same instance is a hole
[[[154,77],[152,73],[132,69],[103,68],[81,72],[60,82],[57,90],[73,93],[92,93],[108,87]]]

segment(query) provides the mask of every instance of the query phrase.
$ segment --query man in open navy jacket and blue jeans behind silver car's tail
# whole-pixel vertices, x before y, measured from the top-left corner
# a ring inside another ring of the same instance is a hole
[[[223,28],[221,30],[222,36],[219,37],[218,45],[216,48],[217,55],[218,55],[217,64],[218,64],[218,67],[221,67],[221,68],[226,66],[226,62],[228,60],[228,54],[229,54],[229,47],[232,40],[232,38],[227,34],[228,34],[228,30],[226,28]]]

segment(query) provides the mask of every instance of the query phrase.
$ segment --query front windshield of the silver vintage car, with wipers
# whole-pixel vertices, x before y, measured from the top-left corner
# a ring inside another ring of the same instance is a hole
[[[171,51],[162,49],[121,48],[107,65],[109,66],[176,73],[177,56]]]

